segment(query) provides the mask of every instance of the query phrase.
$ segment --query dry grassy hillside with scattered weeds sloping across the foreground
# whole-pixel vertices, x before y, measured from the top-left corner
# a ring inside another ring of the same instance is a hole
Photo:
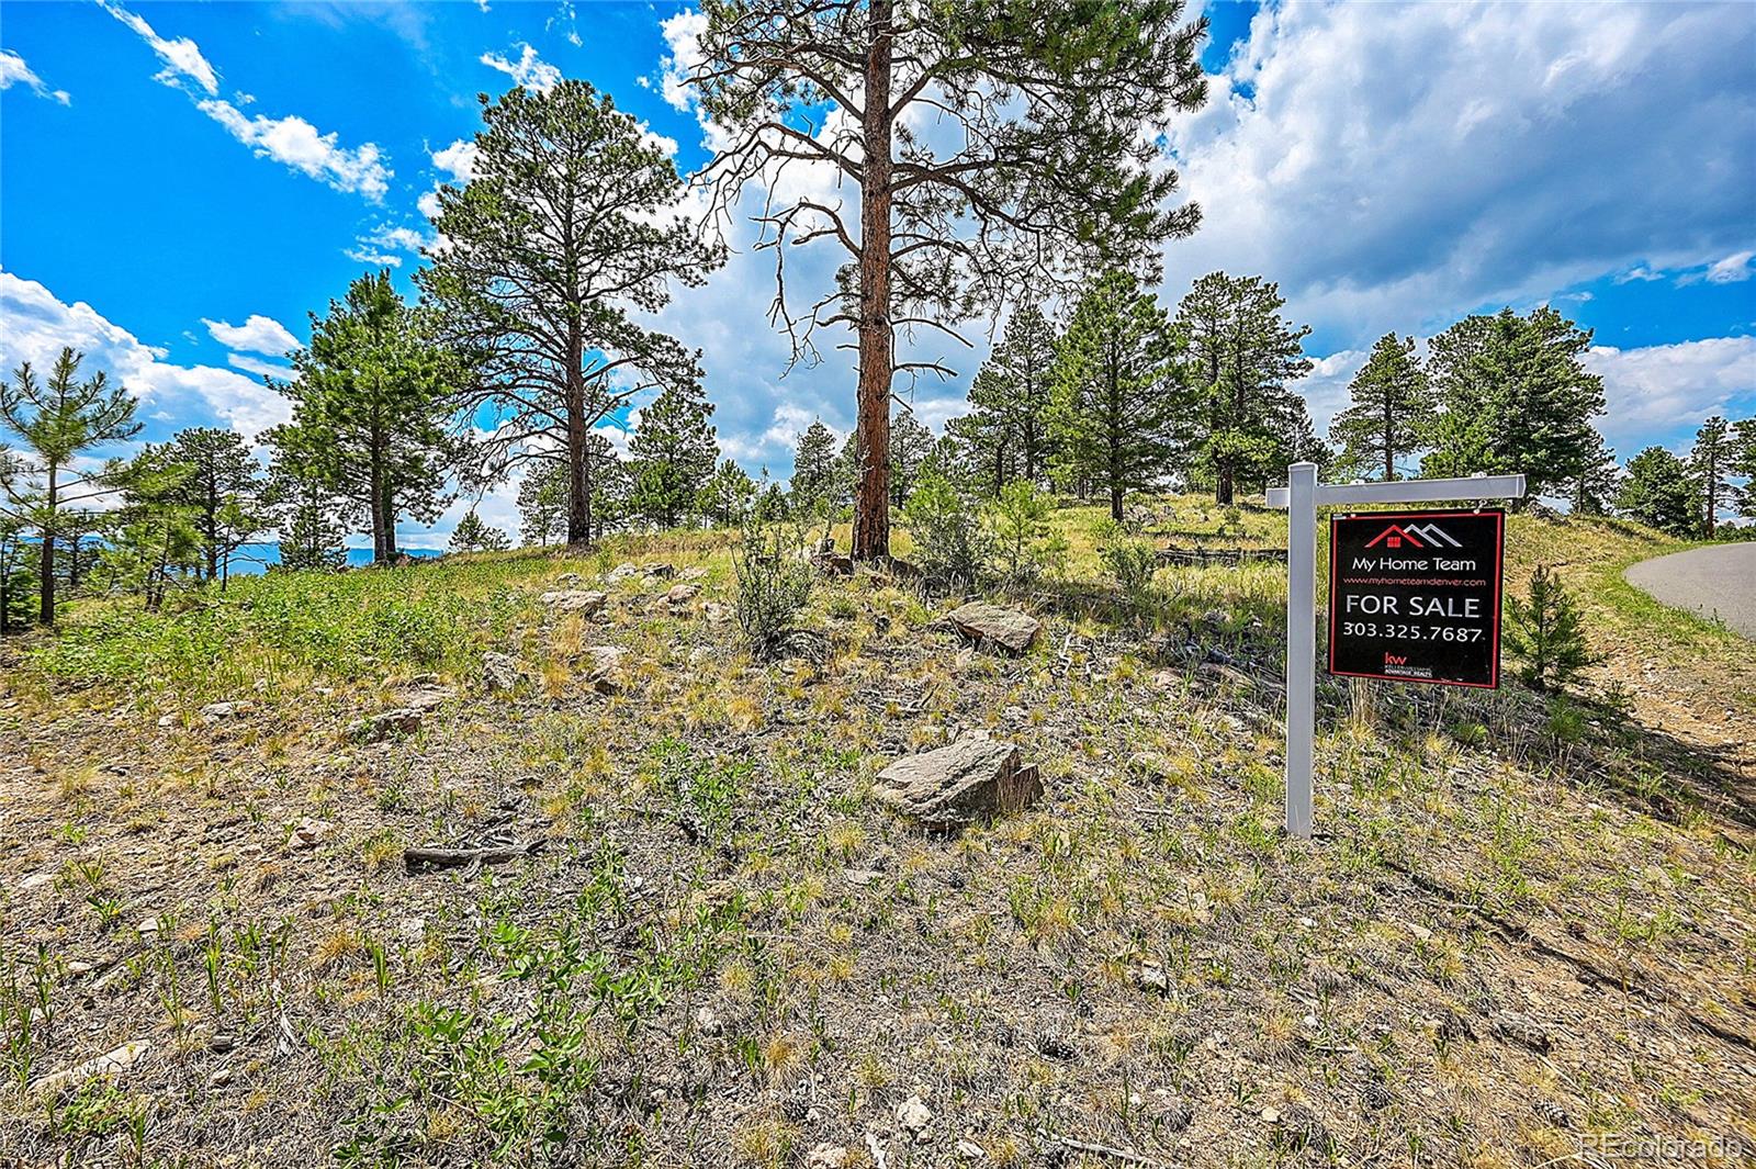
[[[1515,518],[1593,690],[1322,688],[1280,837],[1284,570],[1166,569],[1150,621],[1057,514],[1020,658],[825,577],[752,662],[727,537],[234,581],[0,648],[0,1148],[25,1164],[1524,1165],[1756,1146],[1749,642]],[[1168,500],[1168,541],[1275,513]],[[899,541],[906,555],[906,544]],[[599,584],[616,563],[701,570]],[[608,620],[558,614],[565,586]],[[594,648],[627,651],[620,693]],[[483,653],[511,655],[511,692]],[[230,707],[209,707],[228,702]],[[349,727],[425,707],[367,742]],[[209,713],[204,714],[204,707]],[[962,834],[871,799],[987,728],[1047,792]],[[407,846],[536,844],[407,874]],[[70,1090],[37,1078],[132,1048]],[[839,1157],[839,1160],[838,1160]],[[1724,1158],[1735,1164],[1735,1157]]]

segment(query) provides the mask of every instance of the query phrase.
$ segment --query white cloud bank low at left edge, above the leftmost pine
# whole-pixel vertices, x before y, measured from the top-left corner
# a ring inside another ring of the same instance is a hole
[[[63,346],[86,355],[84,372],[105,370],[112,381],[183,425],[218,416],[246,437],[286,421],[281,395],[230,369],[174,365],[165,349],[142,344],[84,302],[63,304],[54,293],[0,270],[0,369],[23,362],[46,367]]]

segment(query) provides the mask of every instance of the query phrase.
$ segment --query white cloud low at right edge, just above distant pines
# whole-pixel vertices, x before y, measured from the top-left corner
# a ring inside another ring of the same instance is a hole
[[[1709,337],[1670,346],[1594,346],[1586,369],[1603,377],[1603,437],[1626,458],[1677,427],[1709,414],[1756,409],[1756,337]]]

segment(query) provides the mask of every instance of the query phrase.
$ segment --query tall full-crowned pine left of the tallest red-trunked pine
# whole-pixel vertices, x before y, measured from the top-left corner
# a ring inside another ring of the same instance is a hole
[[[644,126],[583,81],[483,102],[474,177],[439,190],[446,240],[416,281],[446,335],[481,356],[462,397],[497,421],[479,477],[567,462],[567,542],[594,530],[592,432],[653,390],[692,386],[699,355],[641,323],[723,262],[678,211],[683,183]]]

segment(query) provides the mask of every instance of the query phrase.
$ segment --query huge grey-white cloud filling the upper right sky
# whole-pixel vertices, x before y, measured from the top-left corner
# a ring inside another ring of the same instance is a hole
[[[1359,348],[1717,260],[1756,212],[1752,56],[1744,5],[1263,7],[1171,126],[1203,225],[1168,288],[1263,274]]]

